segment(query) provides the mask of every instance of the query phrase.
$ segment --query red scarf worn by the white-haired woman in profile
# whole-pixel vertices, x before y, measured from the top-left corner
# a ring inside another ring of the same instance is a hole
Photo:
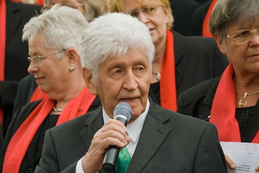
[[[56,126],[86,113],[95,97],[96,95],[92,95],[87,87],[84,87],[80,94],[67,104]],[[54,105],[55,101],[46,96],[14,133],[6,149],[2,173],[19,173],[20,165],[35,133]]]

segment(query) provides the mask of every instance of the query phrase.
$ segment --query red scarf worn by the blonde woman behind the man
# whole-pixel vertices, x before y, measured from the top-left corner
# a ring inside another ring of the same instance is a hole
[[[161,65],[160,101],[163,108],[176,111],[174,35],[170,30],[166,31],[166,50]]]

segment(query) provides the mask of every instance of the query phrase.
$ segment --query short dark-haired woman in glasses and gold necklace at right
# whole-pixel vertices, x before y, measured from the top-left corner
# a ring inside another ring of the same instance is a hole
[[[259,143],[258,9],[259,0],[218,1],[210,31],[230,64],[222,77],[179,97],[178,111],[214,123],[220,141]],[[226,157],[226,161],[234,168],[231,159]]]

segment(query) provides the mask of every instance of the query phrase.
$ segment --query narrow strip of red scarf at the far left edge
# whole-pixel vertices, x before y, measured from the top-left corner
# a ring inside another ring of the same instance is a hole
[[[4,81],[6,3],[0,0],[0,81]],[[3,124],[3,109],[0,108],[0,124]]]

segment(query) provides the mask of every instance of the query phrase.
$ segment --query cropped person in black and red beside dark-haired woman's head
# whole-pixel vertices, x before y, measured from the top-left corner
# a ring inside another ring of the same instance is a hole
[[[197,8],[192,16],[191,35],[213,37],[209,29],[211,12],[218,0],[209,0]]]

